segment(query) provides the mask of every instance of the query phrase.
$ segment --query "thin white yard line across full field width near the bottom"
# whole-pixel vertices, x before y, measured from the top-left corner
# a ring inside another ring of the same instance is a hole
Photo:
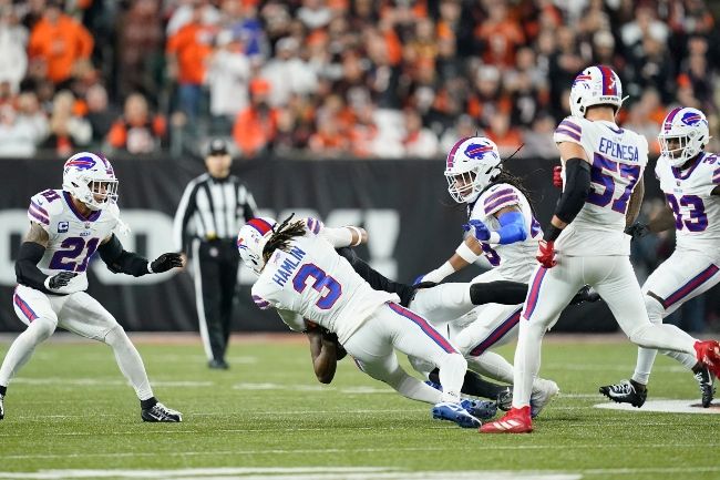
[[[137,432],[133,432],[137,433]],[[160,432],[163,433],[163,432]],[[642,447],[642,448],[671,448],[671,449],[677,449],[677,448],[697,448],[698,443],[692,442],[692,443],[641,443],[638,445],[637,442],[635,443],[624,443],[624,445],[611,445],[611,446],[603,446],[601,449],[604,450],[627,450],[630,447]],[[703,443],[702,445],[704,448],[716,448],[720,447],[720,443]],[[549,450],[567,450],[569,447],[566,445],[557,445],[557,443],[545,443],[545,445],[506,445],[506,446],[501,446],[501,445],[483,445],[483,450],[542,450],[542,449],[549,449]],[[587,445],[573,445],[572,448],[576,449],[589,449],[589,450],[598,450],[598,445],[597,443],[587,443]],[[167,451],[163,452],[163,456],[168,456],[168,457],[183,457],[183,456],[191,456],[191,457],[218,457],[218,456],[232,456],[232,455],[245,455],[245,456],[257,456],[257,455],[306,455],[306,453],[376,453],[376,452],[387,452],[387,448],[326,448],[326,449],[257,449],[257,450],[208,450],[208,451]],[[401,448],[393,448],[393,451],[469,451],[469,452],[477,452],[477,446],[476,445],[467,445],[463,447],[442,447],[442,446],[433,446],[433,447],[401,447]],[[113,458],[113,457],[157,457],[157,452],[117,452],[117,451],[112,451],[107,453],[89,453],[89,452],[82,452],[82,453],[37,453],[37,455],[29,455],[29,453],[23,453],[23,455],[4,455],[2,458],[7,460],[29,460],[29,459],[55,459],[55,458]],[[720,469],[720,467],[717,467]],[[661,469],[665,471],[665,469]],[[600,472],[600,470],[593,470]],[[642,469],[639,469],[639,471],[644,471]],[[683,471],[687,471],[685,469]]]

